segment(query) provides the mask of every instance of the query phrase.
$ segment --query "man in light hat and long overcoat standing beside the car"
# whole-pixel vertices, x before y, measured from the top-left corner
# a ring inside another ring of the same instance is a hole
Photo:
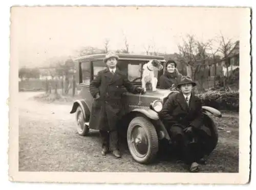
[[[119,57],[114,53],[106,55],[103,62],[108,68],[99,71],[90,84],[90,92],[95,98],[90,125],[95,126],[95,129],[100,131],[102,155],[111,150],[115,157],[120,158],[116,124],[122,109],[121,86],[134,94],[143,93],[143,89],[130,83],[127,76],[116,68],[118,60]]]

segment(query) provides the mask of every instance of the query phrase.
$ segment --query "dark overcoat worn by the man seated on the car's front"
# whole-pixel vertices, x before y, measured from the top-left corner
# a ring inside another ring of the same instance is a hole
[[[171,94],[163,105],[159,116],[166,127],[179,125],[181,127],[193,126],[197,129],[204,130],[203,114],[201,111],[201,100],[194,94],[189,99],[189,107],[183,94]],[[206,131],[209,134],[209,131]]]

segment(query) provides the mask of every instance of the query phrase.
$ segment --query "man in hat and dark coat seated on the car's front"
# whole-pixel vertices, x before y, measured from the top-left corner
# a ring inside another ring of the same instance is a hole
[[[209,154],[211,132],[203,125],[201,100],[191,93],[196,83],[189,76],[182,76],[177,87],[180,93],[170,95],[159,116],[167,127],[180,158],[190,165],[190,172],[199,171],[199,162]],[[197,143],[191,143],[197,140]]]

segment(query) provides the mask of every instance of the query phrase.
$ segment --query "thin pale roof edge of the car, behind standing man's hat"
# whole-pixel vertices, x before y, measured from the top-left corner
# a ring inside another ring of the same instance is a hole
[[[148,55],[138,55],[138,54],[132,54],[132,53],[116,53],[116,55],[119,57],[119,60],[152,60],[157,59],[159,61],[165,61],[164,57],[162,56],[148,56]],[[88,55],[88,56],[82,56],[79,58],[74,59],[74,61],[80,61],[80,60],[99,60],[104,59],[106,56],[106,53],[104,54],[95,54],[95,55]]]

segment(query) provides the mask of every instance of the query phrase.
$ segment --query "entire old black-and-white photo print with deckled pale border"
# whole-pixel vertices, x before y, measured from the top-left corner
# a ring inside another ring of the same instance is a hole
[[[246,183],[250,19],[249,8],[12,7],[9,175]]]

